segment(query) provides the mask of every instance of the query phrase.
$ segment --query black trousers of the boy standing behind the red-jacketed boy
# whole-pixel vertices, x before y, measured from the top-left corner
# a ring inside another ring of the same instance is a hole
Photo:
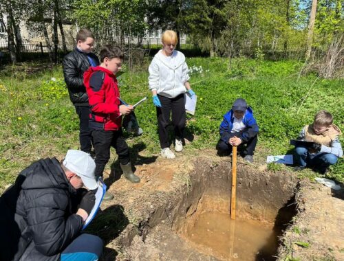
[[[89,106],[75,106],[75,111],[79,116],[79,140],[80,140],[80,150],[90,153],[92,150],[92,134],[89,129]]]

